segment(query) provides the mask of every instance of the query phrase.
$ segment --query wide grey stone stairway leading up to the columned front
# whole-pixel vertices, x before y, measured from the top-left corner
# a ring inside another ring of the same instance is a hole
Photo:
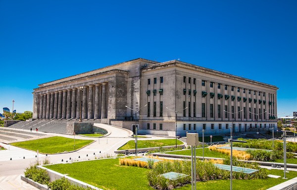
[[[84,120],[83,122],[87,122],[88,120]],[[16,124],[9,126],[8,128],[19,128],[19,129],[26,129],[42,131],[42,132],[53,132],[53,133],[61,133],[67,134],[67,122],[78,122],[76,119],[37,119],[30,122],[20,121]],[[100,123],[100,121],[91,120],[89,122],[92,123]]]

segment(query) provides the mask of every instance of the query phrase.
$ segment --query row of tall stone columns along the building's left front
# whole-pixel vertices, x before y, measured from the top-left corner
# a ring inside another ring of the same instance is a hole
[[[38,95],[39,119],[107,118],[107,83]]]

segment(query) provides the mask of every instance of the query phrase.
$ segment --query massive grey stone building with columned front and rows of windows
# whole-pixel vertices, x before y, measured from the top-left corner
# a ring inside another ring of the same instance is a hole
[[[170,136],[260,131],[277,126],[277,89],[177,60],[136,59],[40,84],[33,118],[137,123],[140,133]]]

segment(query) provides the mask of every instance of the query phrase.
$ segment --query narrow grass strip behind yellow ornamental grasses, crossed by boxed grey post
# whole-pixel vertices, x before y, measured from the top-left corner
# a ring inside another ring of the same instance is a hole
[[[164,153],[191,156],[191,149],[172,151],[172,152],[164,152]],[[202,148],[196,149],[196,156],[203,156]],[[210,151],[208,148],[204,148],[204,156],[205,157],[213,157],[213,158],[229,158],[230,157],[230,156],[220,153],[220,152]]]

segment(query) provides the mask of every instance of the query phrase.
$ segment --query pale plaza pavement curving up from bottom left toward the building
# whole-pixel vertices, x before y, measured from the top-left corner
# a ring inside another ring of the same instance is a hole
[[[120,146],[122,146],[129,140],[135,139],[130,137],[133,134],[133,132],[130,130],[119,128],[119,127],[107,126],[104,124],[95,124],[95,125],[98,127],[108,129],[110,134],[106,137],[100,137],[100,138],[75,135],[75,139],[93,139],[95,140],[95,142],[75,152],[63,153],[63,154],[48,154],[48,156],[44,154],[38,154],[38,159],[41,162],[43,162],[45,157],[47,157],[50,163],[65,163],[70,161],[81,161],[81,160],[89,160],[89,159],[91,160],[91,159],[100,158],[100,157],[113,156],[115,155],[114,151],[116,149],[118,149]],[[23,129],[15,129],[15,130],[23,131]],[[30,131],[30,130],[27,130],[27,131]],[[33,132],[36,132],[36,131],[33,131]],[[39,133],[43,133],[43,132],[39,132]],[[67,135],[67,134],[55,134],[55,133],[44,133],[44,134],[47,134],[44,137],[64,136],[67,138],[74,138],[73,135]],[[161,139],[161,137],[156,137],[156,136],[151,136],[151,137],[152,137],[151,139]],[[13,138],[16,138],[16,137],[13,137]],[[33,138],[27,139],[27,140],[32,140],[32,139]],[[1,140],[1,141],[3,142],[4,140]],[[30,186],[29,184],[21,181],[20,179],[20,175],[24,174],[24,170],[27,167],[29,167],[32,163],[35,163],[37,161],[37,157],[36,157],[37,153],[34,151],[14,147],[9,144],[0,143],[0,145],[6,148],[6,150],[0,150],[0,190],[38,190],[33,186]],[[12,160],[10,160],[10,158]]]

